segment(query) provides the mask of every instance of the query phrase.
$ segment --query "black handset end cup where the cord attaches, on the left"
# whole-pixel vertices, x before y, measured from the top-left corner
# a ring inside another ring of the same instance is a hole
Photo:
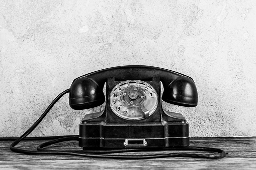
[[[88,77],[80,77],[71,84],[69,105],[72,109],[89,109],[100,106],[104,102],[103,88],[94,80]]]

